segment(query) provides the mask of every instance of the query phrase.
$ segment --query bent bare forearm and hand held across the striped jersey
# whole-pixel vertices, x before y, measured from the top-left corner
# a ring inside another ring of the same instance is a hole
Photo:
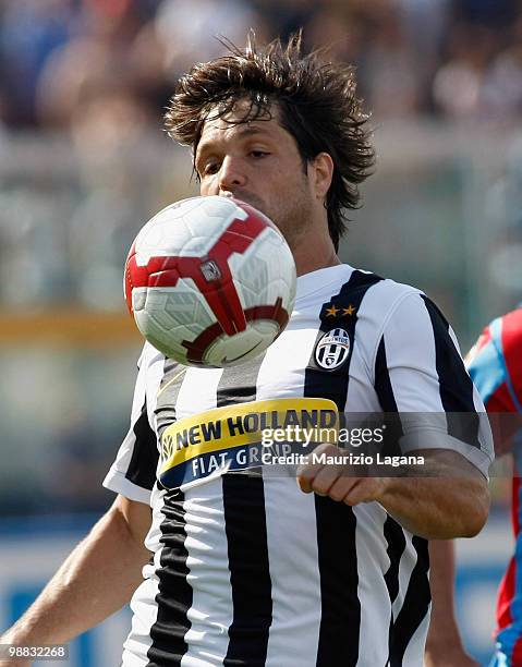
[[[339,454],[333,445],[320,445],[315,452]],[[355,471],[339,464],[308,464],[299,471],[305,493],[329,496],[347,505],[375,500],[414,535],[427,539],[473,537],[484,526],[489,492],[484,475],[464,457],[451,450],[418,450],[425,465],[411,476],[356,477]],[[459,470],[459,476],[456,476]],[[403,469],[403,473],[408,471]]]

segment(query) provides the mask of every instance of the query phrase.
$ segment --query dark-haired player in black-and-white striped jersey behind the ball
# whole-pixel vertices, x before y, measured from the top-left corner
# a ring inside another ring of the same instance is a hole
[[[300,43],[258,48],[251,37],[194,65],[167,113],[170,135],[192,148],[202,195],[254,205],[289,242],[299,275],[290,323],[266,353],[226,369],[182,367],[145,345],[131,428],[105,481],[118,498],[4,643],[66,642],[132,595],[125,667],[422,665],[427,539],[483,526],[490,434],[438,308],[337,256],[342,211],[357,205],[374,151],[353,70],[302,54]],[[298,485],[266,466],[208,474],[203,447],[174,460],[181,477],[191,465],[190,483],[161,484],[169,462],[158,452],[178,422],[281,398],[436,415],[398,433],[422,472],[372,477],[311,460]]]

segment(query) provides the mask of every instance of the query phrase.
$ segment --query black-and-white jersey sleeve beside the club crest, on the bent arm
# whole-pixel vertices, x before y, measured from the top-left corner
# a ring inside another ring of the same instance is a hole
[[[377,343],[375,388],[396,414],[400,449],[452,449],[487,477],[493,461],[485,408],[438,307],[410,292],[392,308]]]

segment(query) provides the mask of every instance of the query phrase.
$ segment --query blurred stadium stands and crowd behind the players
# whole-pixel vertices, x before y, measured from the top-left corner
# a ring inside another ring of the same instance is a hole
[[[122,267],[139,227],[196,192],[162,133],[194,61],[304,26],[353,62],[376,174],[342,257],[424,289],[463,350],[522,298],[518,0],[0,0],[0,630],[112,495],[141,341]],[[486,664],[511,547],[506,481],[459,544],[458,608]],[[122,613],[70,665],[119,664]],[[102,656],[102,657],[101,657]]]

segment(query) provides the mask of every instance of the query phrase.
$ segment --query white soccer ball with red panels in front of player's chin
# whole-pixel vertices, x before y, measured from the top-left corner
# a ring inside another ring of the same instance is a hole
[[[232,366],[286,327],[295,264],[276,226],[252,206],[192,197],[139,231],[124,291],[137,328],[160,352],[186,365]]]

